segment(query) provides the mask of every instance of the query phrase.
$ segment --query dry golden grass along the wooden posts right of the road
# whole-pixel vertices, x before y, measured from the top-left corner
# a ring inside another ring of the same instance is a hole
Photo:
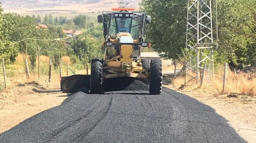
[[[187,90],[195,90],[198,92],[207,92],[214,94],[222,94],[223,88],[223,68],[218,67],[215,70],[215,75],[210,78],[209,81],[204,81],[201,88],[194,83],[191,86],[185,87]],[[176,78],[173,81],[176,87],[180,87],[184,84],[184,77]],[[227,84],[224,94],[244,94],[249,96],[256,95],[256,74],[251,73],[233,73],[228,71]]]

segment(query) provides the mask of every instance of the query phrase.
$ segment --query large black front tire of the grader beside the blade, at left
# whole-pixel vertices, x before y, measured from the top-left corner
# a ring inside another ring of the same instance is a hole
[[[90,91],[93,94],[102,94],[102,59],[92,59]]]

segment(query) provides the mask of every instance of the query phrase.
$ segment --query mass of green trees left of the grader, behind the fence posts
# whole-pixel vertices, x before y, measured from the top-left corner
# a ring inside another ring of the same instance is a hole
[[[23,17],[13,13],[2,14],[2,12],[3,8],[0,3],[0,58],[5,58],[6,64],[14,62],[18,53],[27,53],[32,69],[34,69],[38,47],[41,55],[52,58],[54,66],[59,65],[61,57],[64,55],[74,57],[72,58],[73,62],[83,63],[87,67],[91,58],[103,55],[101,48],[103,38],[99,38],[102,36],[100,25],[82,36],[65,39],[66,42],[49,41],[48,39],[66,38],[67,34],[63,33],[63,28],[67,26],[77,28],[78,26],[74,25],[72,20],[67,20],[66,17],[54,18],[52,21],[52,16],[46,15],[44,23],[48,28],[44,28],[38,25],[41,21],[39,15]],[[92,22],[84,24],[84,27],[94,25]],[[30,39],[24,40],[26,38]],[[68,47],[69,41],[70,46]]]

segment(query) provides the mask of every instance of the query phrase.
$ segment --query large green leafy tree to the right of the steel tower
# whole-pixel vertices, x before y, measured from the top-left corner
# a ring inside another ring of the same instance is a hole
[[[217,62],[253,64],[256,55],[256,1],[219,0]]]

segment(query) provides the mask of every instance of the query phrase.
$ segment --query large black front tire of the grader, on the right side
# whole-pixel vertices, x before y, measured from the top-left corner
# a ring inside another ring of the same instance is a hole
[[[151,95],[161,94],[163,81],[162,60],[152,59],[150,72],[149,93]]]

